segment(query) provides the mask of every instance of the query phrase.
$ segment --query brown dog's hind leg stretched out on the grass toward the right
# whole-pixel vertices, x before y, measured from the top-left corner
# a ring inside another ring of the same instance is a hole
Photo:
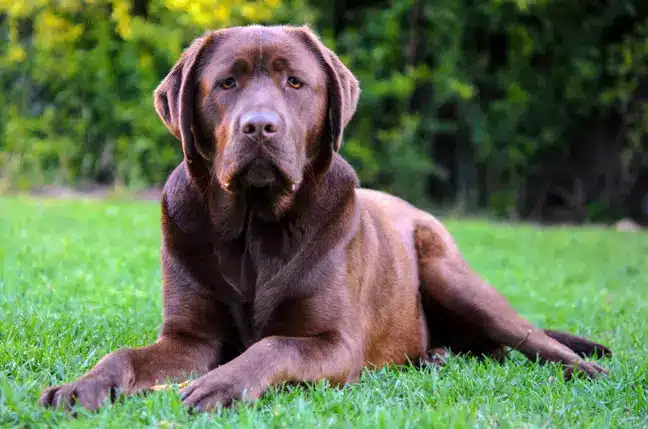
[[[470,326],[472,337],[512,347],[529,359],[559,362],[567,377],[575,371],[588,377],[607,373],[600,365],[582,360],[568,347],[573,341],[567,337],[548,335],[518,315],[503,295],[470,269],[440,223],[418,225],[415,241],[423,298]]]

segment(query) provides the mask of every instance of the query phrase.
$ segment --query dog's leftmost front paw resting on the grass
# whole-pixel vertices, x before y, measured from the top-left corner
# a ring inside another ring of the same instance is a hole
[[[73,383],[52,386],[45,389],[39,404],[43,407],[63,408],[70,410],[81,405],[89,411],[95,411],[114,401],[116,388],[110,382],[97,378],[83,378]]]

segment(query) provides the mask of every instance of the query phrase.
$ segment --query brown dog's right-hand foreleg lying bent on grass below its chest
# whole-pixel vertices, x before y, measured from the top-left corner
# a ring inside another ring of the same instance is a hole
[[[185,405],[200,411],[253,401],[272,385],[329,380],[344,384],[357,379],[361,359],[354,342],[341,334],[317,337],[267,337],[253,344],[180,391]]]

